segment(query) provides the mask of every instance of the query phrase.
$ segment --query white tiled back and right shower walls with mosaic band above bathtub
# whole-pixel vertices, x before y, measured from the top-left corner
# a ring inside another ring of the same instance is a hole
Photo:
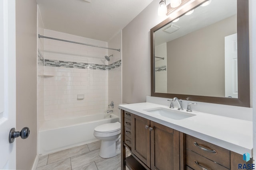
[[[44,36],[108,47],[108,43],[104,41],[78,37],[48,29],[44,29]],[[121,40],[121,33],[117,36],[118,40]],[[39,41],[42,42],[42,38]],[[121,41],[115,43],[120,44],[114,48],[121,47]],[[115,114],[118,115],[117,107],[122,100],[120,52],[112,53],[108,49],[51,39],[44,39],[43,47],[44,58],[48,60],[48,64],[44,66],[44,74],[52,76],[45,77],[43,81],[44,88],[42,93],[44,96],[42,99],[44,100],[44,116],[40,117],[42,121],[106,113],[108,104],[112,100],[115,102],[114,113],[116,112]],[[108,55],[108,53],[114,54],[112,58],[115,59],[114,61],[106,61],[104,56]],[[54,66],[55,62],[59,65]],[[94,69],[73,67],[72,64],[78,64],[72,62],[83,65],[91,64]],[[112,70],[108,70],[108,64],[110,63],[110,69]],[[67,65],[71,68],[67,68]],[[104,69],[105,66],[106,69]],[[102,68],[104,70],[100,70]],[[111,82],[108,81],[108,72],[110,71]],[[109,93],[111,93],[111,98],[108,98]],[[84,99],[77,99],[78,94],[84,94]]]

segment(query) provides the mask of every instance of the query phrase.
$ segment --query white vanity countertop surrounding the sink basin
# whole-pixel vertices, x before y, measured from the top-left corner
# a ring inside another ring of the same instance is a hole
[[[120,109],[197,137],[214,145],[239,154],[248,152],[250,156],[252,156],[252,121],[212,115],[198,111],[187,112],[186,109],[181,112],[192,113],[195,114],[195,116],[175,120],[145,111],[145,109],[156,107],[170,109],[168,106],[149,102],[118,106]],[[177,108],[171,110],[177,111]]]

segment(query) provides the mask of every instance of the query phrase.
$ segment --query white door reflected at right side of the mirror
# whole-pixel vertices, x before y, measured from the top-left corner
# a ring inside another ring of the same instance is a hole
[[[236,33],[225,37],[225,97],[238,98]]]

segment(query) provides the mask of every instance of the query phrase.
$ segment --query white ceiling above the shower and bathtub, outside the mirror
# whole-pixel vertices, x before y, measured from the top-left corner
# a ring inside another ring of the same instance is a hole
[[[108,42],[153,0],[36,0],[45,29]]]

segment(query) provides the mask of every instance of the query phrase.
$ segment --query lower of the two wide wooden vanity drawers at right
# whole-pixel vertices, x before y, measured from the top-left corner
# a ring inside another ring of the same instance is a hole
[[[224,166],[188,149],[186,149],[186,164],[194,170],[202,170],[203,168],[206,170],[228,170]]]

